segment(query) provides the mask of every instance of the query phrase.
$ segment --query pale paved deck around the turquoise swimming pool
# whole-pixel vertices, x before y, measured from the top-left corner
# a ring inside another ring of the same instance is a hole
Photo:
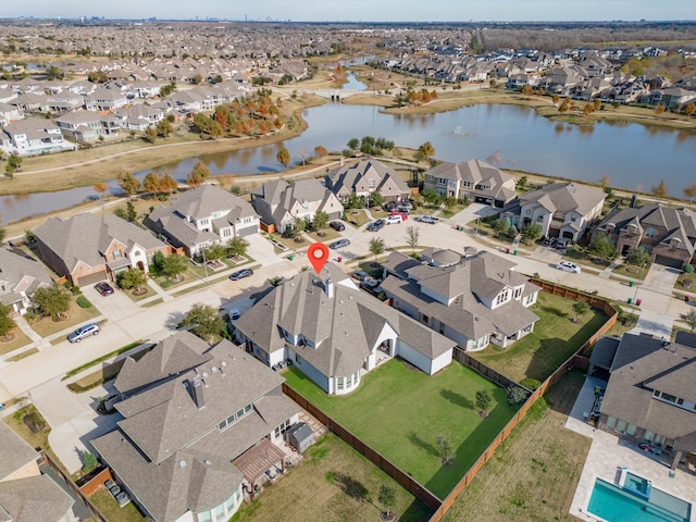
[[[691,502],[691,520],[696,522],[696,475],[678,469],[674,472],[675,476],[670,477],[670,468],[659,462],[651,453],[639,449],[637,444],[620,440],[611,433],[596,430],[583,418],[583,412],[592,411],[595,386],[605,385],[605,381],[587,377],[566,422],[567,428],[592,438],[570,513],[580,520],[599,520],[585,511],[589,504],[595,477],[616,483],[617,471],[625,467],[629,471],[652,481],[652,487]]]

